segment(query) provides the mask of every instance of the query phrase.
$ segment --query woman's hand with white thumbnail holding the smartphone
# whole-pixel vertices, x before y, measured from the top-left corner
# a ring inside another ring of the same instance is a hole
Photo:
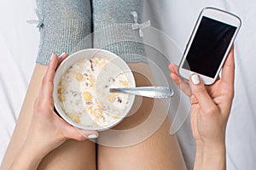
[[[205,86],[197,75],[192,75],[189,82],[184,81],[177,74],[177,65],[169,65],[172,80],[190,98],[196,156],[202,150],[224,154],[225,129],[234,97],[234,68],[234,47],[224,63],[222,77],[210,86]]]

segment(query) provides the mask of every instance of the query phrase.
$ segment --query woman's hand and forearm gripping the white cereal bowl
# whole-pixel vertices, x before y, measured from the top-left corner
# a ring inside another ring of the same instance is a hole
[[[52,55],[40,93],[34,104],[31,125],[26,140],[20,149],[19,156],[14,161],[14,169],[15,167],[19,167],[19,169],[22,169],[22,167],[24,169],[36,168],[49,151],[54,150],[67,139],[83,141],[98,136],[96,131],[83,130],[69,125],[54,111],[53,80],[55,69],[65,58],[67,58],[67,54],[63,54],[60,59],[57,55]],[[26,161],[22,160],[25,158],[24,156],[27,158]]]

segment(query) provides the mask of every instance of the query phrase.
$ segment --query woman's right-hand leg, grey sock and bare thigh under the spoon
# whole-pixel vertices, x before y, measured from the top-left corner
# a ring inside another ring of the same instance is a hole
[[[92,1],[94,48],[104,48],[127,62],[145,61],[142,35],[133,29],[143,23],[143,0]],[[136,11],[137,14],[134,12]],[[132,14],[133,15],[132,15]],[[130,65],[137,86],[150,86],[146,64]],[[175,135],[169,135],[171,122],[166,105],[158,99],[136,99],[131,116],[100,133],[98,168],[104,169],[185,169]]]

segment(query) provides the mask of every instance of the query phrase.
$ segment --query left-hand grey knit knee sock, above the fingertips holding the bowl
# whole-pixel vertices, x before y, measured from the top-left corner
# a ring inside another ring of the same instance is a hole
[[[91,48],[90,0],[37,0],[40,42],[37,63],[48,65],[51,54]]]

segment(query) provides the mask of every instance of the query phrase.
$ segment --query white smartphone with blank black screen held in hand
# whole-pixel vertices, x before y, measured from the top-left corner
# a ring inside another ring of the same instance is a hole
[[[215,82],[240,29],[241,20],[218,8],[203,8],[178,66],[178,74],[189,80],[198,74],[207,85]]]

